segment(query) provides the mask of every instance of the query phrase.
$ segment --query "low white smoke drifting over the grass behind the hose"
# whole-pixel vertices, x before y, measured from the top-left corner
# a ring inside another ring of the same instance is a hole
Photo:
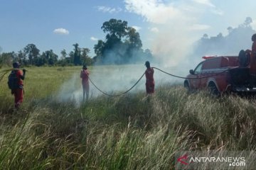
[[[151,67],[161,68],[157,63],[151,62]],[[144,74],[146,67],[142,64],[125,64],[125,65],[102,65],[89,67],[90,79],[100,90],[110,95],[123,94],[124,91],[130,89]],[[164,71],[174,74],[176,67],[165,68]],[[186,72],[179,72],[178,76],[186,76]],[[162,84],[175,84],[182,83],[183,79],[171,77],[167,74],[159,72],[154,69],[154,80],[155,88],[157,89]],[[145,87],[145,76],[139,81],[137,86],[129,91],[129,94],[135,94],[138,91],[144,91],[146,94]],[[157,91],[156,91],[157,93]],[[90,82],[90,95],[89,99],[96,98],[97,96],[104,95]],[[82,102],[82,83],[80,79],[80,69],[76,74],[73,74],[72,78],[66,81],[60,88],[57,96],[60,101],[73,100],[79,106]]]

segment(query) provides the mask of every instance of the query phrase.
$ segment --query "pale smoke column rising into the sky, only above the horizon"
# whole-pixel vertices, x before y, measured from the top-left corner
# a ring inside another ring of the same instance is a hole
[[[210,28],[200,23],[198,18],[207,9],[212,13],[218,11],[210,0],[124,2],[127,11],[136,13],[151,23],[147,36],[151,39],[149,47],[163,67],[177,67],[179,64],[183,64],[184,67],[191,64],[188,58],[193,50],[193,43],[201,36],[201,30]]]

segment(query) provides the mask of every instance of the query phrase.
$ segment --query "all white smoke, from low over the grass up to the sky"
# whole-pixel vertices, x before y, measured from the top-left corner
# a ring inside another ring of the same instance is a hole
[[[196,67],[198,62],[191,63],[188,60],[193,42],[198,40],[198,31],[210,28],[210,26],[199,23],[198,16],[203,13],[203,10],[218,11],[218,9],[208,0],[177,1],[176,3],[164,3],[161,0],[125,0],[124,2],[127,11],[136,13],[144,17],[145,21],[151,23],[148,29],[144,29],[144,31],[149,31],[148,38],[152,40],[150,49],[153,55],[156,56],[156,60],[149,61],[151,67],[158,67],[171,74],[186,77],[188,70]],[[121,50],[120,54],[122,55],[122,49],[119,50]],[[111,55],[110,52],[108,60],[118,62],[118,56]],[[134,63],[136,64],[89,67],[90,79],[107,94],[121,94],[131,88],[144,74],[146,70],[144,62],[146,60],[138,62],[135,59]],[[78,70],[76,78],[63,85],[71,85],[71,90],[63,88],[64,97],[74,96],[78,101],[82,98],[79,74],[80,70]],[[183,82],[183,79],[171,77],[156,69],[154,79],[156,89],[161,84],[182,84]],[[77,81],[80,84],[79,91],[72,81]],[[146,94],[145,76],[129,93],[137,93],[137,91],[144,91]],[[90,98],[99,95],[102,95],[102,93],[90,83]]]

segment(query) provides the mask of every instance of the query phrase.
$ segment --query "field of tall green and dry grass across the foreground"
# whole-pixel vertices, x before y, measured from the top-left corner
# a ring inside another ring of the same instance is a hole
[[[159,84],[153,96],[137,89],[78,105],[58,95],[80,67],[27,69],[19,111],[0,82],[0,169],[174,169],[180,150],[256,149],[255,98]]]

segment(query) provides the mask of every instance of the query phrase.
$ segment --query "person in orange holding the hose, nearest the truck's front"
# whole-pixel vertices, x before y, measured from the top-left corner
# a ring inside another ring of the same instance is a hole
[[[145,62],[146,71],[146,94],[154,94],[154,69],[150,67],[149,61]]]

